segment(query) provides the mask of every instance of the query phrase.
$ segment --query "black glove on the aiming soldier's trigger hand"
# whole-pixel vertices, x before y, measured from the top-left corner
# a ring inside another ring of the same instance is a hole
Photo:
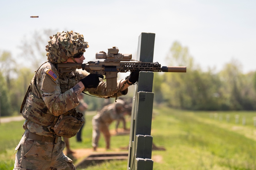
[[[99,78],[103,79],[104,76],[101,74],[89,74],[80,81],[83,83],[85,88],[96,88],[100,83]]]

